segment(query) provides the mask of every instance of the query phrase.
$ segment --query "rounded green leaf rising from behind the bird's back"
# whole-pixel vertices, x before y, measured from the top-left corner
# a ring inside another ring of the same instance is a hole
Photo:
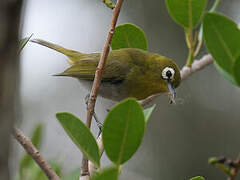
[[[147,39],[141,28],[134,24],[121,24],[116,27],[112,42],[112,50],[121,48],[138,48],[147,50]]]

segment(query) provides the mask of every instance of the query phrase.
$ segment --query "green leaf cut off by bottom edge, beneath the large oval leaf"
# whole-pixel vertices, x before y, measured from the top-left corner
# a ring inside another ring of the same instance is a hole
[[[117,167],[108,167],[97,171],[95,176],[91,180],[117,180],[118,179],[118,169]]]

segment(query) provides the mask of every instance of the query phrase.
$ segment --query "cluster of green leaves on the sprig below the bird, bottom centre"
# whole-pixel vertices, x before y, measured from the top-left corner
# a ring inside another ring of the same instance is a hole
[[[114,106],[108,113],[103,124],[103,144],[108,158],[116,164],[116,167],[113,167],[117,168],[117,172],[120,165],[129,160],[139,148],[145,131],[145,123],[154,107],[144,112],[135,99],[129,98]],[[57,113],[56,116],[73,142],[91,161],[100,165],[97,163],[99,149],[85,124],[70,113]],[[94,179],[114,176],[114,168],[110,169],[101,169]]]

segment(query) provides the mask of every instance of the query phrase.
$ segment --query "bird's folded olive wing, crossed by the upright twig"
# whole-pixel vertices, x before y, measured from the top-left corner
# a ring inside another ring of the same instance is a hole
[[[94,58],[81,60],[66,69],[63,73],[57,74],[57,76],[71,76],[79,79],[93,80],[97,65],[98,60]],[[102,81],[117,83],[124,80],[128,71],[129,67],[120,60],[107,61],[103,70]]]

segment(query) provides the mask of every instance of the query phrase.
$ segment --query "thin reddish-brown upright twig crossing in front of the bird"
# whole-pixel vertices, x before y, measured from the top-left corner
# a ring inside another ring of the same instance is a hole
[[[112,36],[113,36],[114,30],[115,30],[115,26],[117,24],[117,19],[118,19],[120,10],[121,10],[122,3],[123,3],[123,0],[118,0],[116,7],[114,8],[113,17],[112,17],[112,21],[111,21],[111,25],[110,25],[110,30],[108,32],[108,37],[105,42],[103,53],[101,54],[101,58],[98,63],[98,67],[95,72],[95,78],[93,81],[93,86],[92,86],[92,90],[90,93],[90,99],[89,99],[89,103],[88,103],[88,107],[87,107],[88,111],[87,111],[86,125],[89,128],[91,127],[91,121],[92,121],[92,116],[94,113],[96,98],[97,98],[97,94],[98,94],[101,80],[102,80],[102,71],[103,71],[103,68],[104,68],[108,53],[109,53],[110,43],[111,43]],[[84,176],[86,176],[87,178],[82,178],[82,179],[88,179],[89,170],[88,170],[88,160],[86,157],[83,156],[81,177],[84,177]],[[80,177],[80,179],[81,179],[81,177]]]

